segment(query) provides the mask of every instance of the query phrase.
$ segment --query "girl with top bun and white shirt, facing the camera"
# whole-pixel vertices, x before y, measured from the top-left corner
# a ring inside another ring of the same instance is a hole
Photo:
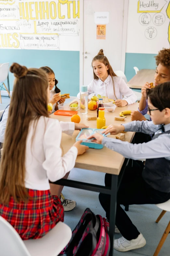
[[[103,49],[93,58],[92,67],[94,79],[87,87],[89,94],[100,94],[101,96],[113,99],[117,107],[123,107],[136,102],[137,97],[135,93],[121,77],[116,76],[103,53]],[[126,99],[123,99],[123,96]]]

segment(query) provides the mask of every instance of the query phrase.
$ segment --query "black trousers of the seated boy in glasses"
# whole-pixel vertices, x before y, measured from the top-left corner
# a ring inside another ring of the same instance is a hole
[[[125,170],[117,194],[116,226],[127,240],[137,238],[140,233],[120,204],[158,204],[170,199],[170,193],[163,193],[149,187],[142,178],[143,167],[141,161],[134,161],[133,167]],[[110,174],[106,174],[105,186],[111,186],[110,176]],[[109,220],[110,196],[100,193],[99,200]]]

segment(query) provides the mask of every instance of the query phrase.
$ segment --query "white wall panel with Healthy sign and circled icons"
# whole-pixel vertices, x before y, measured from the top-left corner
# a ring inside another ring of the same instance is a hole
[[[169,0],[129,0],[126,52],[157,54],[169,48],[169,25]]]

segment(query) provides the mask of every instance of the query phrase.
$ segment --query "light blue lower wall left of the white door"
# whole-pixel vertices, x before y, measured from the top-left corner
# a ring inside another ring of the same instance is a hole
[[[18,62],[26,67],[49,66],[59,81],[61,93],[76,96],[79,92],[79,51],[0,49],[0,63]],[[10,91],[14,76],[9,72]],[[7,82],[6,82],[7,84]]]

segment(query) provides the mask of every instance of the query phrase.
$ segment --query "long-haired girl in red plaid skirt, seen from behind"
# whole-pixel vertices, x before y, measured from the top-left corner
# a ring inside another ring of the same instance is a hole
[[[62,127],[47,110],[46,73],[17,63],[10,71],[16,78],[0,165],[0,215],[23,240],[36,239],[64,220],[62,203],[50,194],[49,180],[63,178],[88,147],[75,143],[62,157]]]

